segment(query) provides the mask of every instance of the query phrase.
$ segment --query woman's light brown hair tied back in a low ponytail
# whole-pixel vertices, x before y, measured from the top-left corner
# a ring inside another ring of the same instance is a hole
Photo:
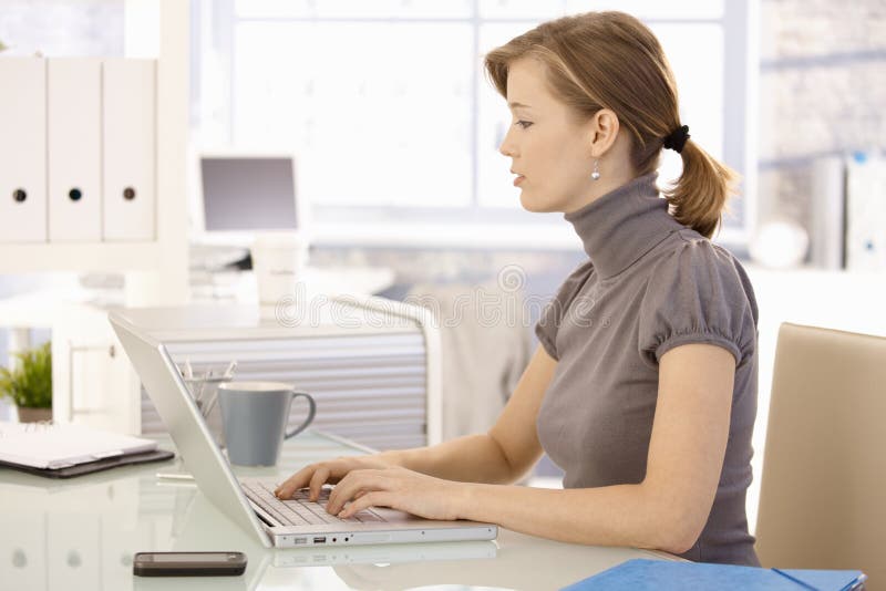
[[[507,97],[509,64],[534,58],[545,65],[556,96],[577,113],[608,108],[631,137],[639,176],[659,166],[664,138],[681,126],[677,84],[661,45],[624,12],[588,12],[545,22],[486,54],[486,74]],[[711,238],[739,175],[692,139],[680,152],[683,172],[662,190],[673,217]]]

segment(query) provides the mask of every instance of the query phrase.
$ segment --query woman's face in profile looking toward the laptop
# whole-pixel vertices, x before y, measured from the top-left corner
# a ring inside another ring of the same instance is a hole
[[[588,201],[594,158],[591,122],[581,123],[548,91],[534,59],[508,68],[511,127],[498,151],[511,158],[519,201],[528,211],[571,211]]]

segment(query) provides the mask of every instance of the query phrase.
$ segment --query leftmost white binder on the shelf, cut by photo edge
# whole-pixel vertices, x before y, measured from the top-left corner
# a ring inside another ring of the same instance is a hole
[[[45,241],[45,60],[0,59],[0,241]]]

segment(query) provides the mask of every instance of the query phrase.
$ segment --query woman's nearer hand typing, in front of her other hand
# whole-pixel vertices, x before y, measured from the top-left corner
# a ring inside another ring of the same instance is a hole
[[[326,508],[342,519],[369,507],[390,507],[426,519],[460,519],[470,486],[400,466],[356,469],[332,489]]]

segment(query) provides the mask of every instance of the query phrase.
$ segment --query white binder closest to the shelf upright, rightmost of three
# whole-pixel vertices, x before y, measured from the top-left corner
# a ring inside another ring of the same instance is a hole
[[[105,240],[155,237],[155,96],[154,60],[104,60],[102,236]]]

